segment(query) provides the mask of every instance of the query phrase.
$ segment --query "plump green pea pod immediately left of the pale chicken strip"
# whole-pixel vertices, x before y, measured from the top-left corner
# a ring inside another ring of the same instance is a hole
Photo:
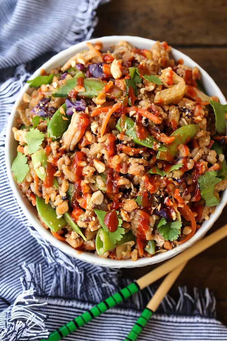
[[[61,107],[66,111],[65,103]],[[47,136],[50,137],[52,141],[56,141],[62,137],[63,133],[68,129],[71,120],[70,116],[62,115],[60,113],[60,108],[55,112],[47,127]],[[67,118],[67,120],[64,120],[63,116]]]

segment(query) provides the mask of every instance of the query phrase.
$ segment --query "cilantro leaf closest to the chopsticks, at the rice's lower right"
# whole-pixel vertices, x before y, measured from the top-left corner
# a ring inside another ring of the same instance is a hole
[[[172,223],[167,223],[165,218],[162,218],[158,225],[158,232],[163,236],[165,240],[176,240],[181,233],[182,223],[180,221],[173,221]]]

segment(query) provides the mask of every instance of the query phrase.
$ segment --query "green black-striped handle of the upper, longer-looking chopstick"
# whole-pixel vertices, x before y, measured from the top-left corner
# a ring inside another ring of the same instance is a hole
[[[73,321],[66,323],[64,326],[62,326],[58,330],[55,330],[54,332],[52,332],[47,340],[59,341],[63,339],[65,336],[69,335],[70,333],[78,329],[79,327],[91,321],[92,318],[101,315],[102,313],[107,311],[109,308],[115,307],[118,303],[122,302],[124,299],[137,293],[139,290],[140,290],[140,287],[136,282],[129,284],[128,286],[120,290],[118,293],[108,297],[107,299],[98,303],[96,306],[94,306],[90,310],[74,318]],[[46,341],[46,340],[42,339],[41,341]]]

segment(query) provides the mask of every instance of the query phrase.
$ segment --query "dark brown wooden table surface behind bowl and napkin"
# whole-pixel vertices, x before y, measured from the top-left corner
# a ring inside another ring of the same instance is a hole
[[[167,41],[194,59],[215,80],[227,97],[227,45],[225,0],[112,0],[97,10],[94,36],[137,35]],[[227,221],[227,207],[209,233]],[[123,269],[125,277],[138,278],[155,266]],[[209,287],[217,299],[217,318],[227,325],[226,239],[188,262],[172,287]]]

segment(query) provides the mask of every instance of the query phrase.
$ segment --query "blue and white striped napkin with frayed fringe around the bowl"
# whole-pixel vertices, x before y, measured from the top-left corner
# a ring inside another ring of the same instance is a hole
[[[97,23],[95,9],[104,2],[0,0],[0,74],[8,75],[0,86],[1,341],[47,338],[130,283],[121,270],[83,263],[44,241],[13,196],[4,160],[7,119],[28,70],[33,72],[55,51],[89,39]],[[123,340],[154,290],[135,294],[65,340]],[[180,287],[179,299],[167,295],[138,340],[227,340],[227,328],[215,318],[215,297],[208,289]]]

